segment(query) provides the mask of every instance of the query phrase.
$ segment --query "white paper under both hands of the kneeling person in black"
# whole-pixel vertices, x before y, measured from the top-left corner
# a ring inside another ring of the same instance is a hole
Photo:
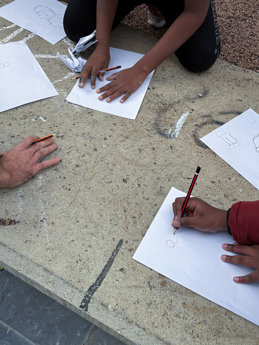
[[[99,101],[98,97],[100,96],[100,94],[96,93],[96,90],[111,82],[106,80],[105,78],[111,76],[117,71],[132,67],[138,60],[140,60],[144,56],[139,53],[134,53],[132,51],[117,48],[110,48],[110,55],[111,61],[109,63],[109,67],[122,66],[122,68],[106,72],[103,81],[100,81],[97,77],[94,90],[91,88],[90,78],[87,79],[87,82],[85,83],[85,86],[83,88],[78,87],[79,81],[77,81],[72,91],[67,96],[66,100],[70,103],[75,103],[86,108],[103,111],[108,114],[135,120],[154,71],[152,71],[147,76],[141,87],[136,92],[134,92],[130,96],[130,98],[125,101],[125,103],[122,104],[119,102],[119,100],[122,99],[123,96],[118,97],[111,103],[107,103],[105,99]]]

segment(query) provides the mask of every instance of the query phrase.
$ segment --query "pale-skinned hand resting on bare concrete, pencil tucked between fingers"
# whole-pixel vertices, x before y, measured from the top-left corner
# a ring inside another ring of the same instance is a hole
[[[33,141],[39,139],[36,136],[25,138],[20,144],[6,152],[0,158],[0,188],[15,187],[29,180],[42,169],[57,164],[59,157],[38,163],[38,160],[57,149],[53,139],[47,139],[37,144]]]

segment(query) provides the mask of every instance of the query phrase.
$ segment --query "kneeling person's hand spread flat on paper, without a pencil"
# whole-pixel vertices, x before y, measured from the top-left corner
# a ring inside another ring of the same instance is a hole
[[[143,84],[146,77],[144,71],[137,66],[113,73],[113,75],[106,78],[106,80],[113,81],[96,91],[97,93],[106,91],[103,95],[99,96],[98,99],[101,101],[109,97],[106,99],[106,102],[109,103],[125,93],[120,100],[120,102],[123,103]]]

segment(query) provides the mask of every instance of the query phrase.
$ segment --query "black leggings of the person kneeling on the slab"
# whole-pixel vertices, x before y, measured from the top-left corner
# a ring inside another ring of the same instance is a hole
[[[78,42],[81,37],[87,36],[96,29],[96,1],[70,0],[64,16],[64,30],[72,41]],[[130,11],[142,3],[138,0],[119,0],[112,30]],[[153,0],[148,3],[159,8],[168,27],[184,10],[184,0]],[[82,19],[78,19],[78,16]],[[185,68],[193,72],[200,72],[209,69],[219,53],[220,38],[217,16],[214,2],[210,0],[204,22],[192,37],[175,51],[175,55]]]

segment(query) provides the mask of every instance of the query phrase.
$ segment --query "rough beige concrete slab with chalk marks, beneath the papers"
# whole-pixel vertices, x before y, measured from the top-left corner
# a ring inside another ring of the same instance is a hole
[[[0,28],[2,42],[26,40],[59,92],[2,112],[1,150],[58,132],[50,157],[62,159],[1,191],[0,217],[19,223],[1,227],[0,264],[126,344],[258,344],[256,325],[132,255],[170,188],[187,190],[197,165],[193,195],[226,209],[259,198],[199,141],[249,107],[259,112],[259,75],[220,60],[191,73],[172,56],[156,69],[136,120],[127,120],[65,101],[75,74],[55,55],[67,53],[68,39],[53,46],[1,18]],[[120,25],[111,46],[146,53],[156,41]]]

